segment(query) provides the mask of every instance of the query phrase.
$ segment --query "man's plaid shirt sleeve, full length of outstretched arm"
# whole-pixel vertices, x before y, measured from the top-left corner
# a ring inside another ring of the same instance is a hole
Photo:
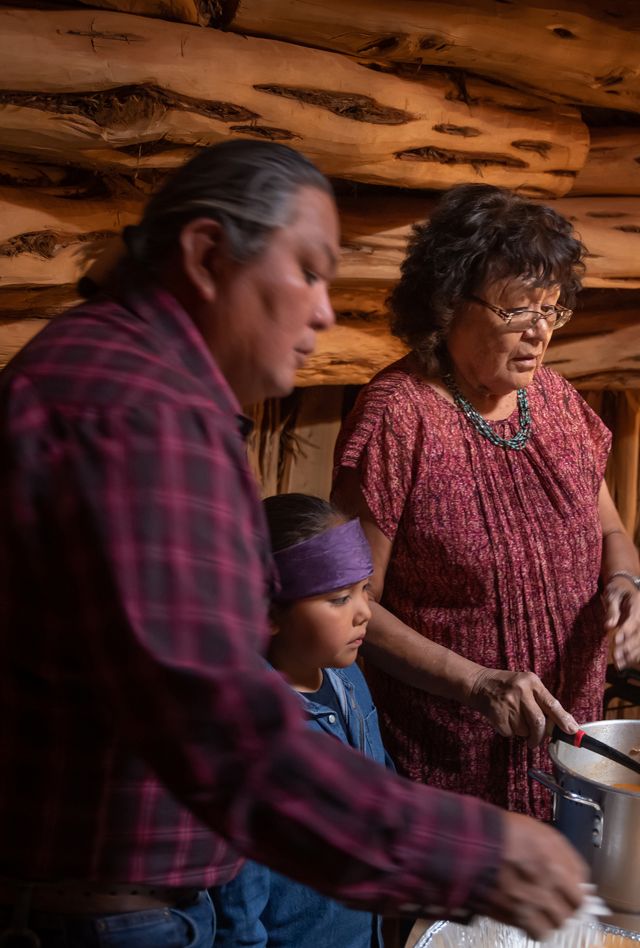
[[[41,437],[36,414],[23,417]],[[48,425],[40,500],[82,620],[75,645],[160,780],[245,855],[329,895],[481,910],[500,811],[310,732],[264,662],[261,512],[233,419],[158,400],[65,408]]]

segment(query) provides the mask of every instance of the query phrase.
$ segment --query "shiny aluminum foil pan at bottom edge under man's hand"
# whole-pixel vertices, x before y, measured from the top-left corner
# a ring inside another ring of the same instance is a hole
[[[415,948],[536,948],[540,944],[519,928],[480,918],[472,925],[436,922],[415,943]],[[640,935],[613,925],[585,921],[557,932],[542,944],[545,948],[634,948],[640,944]]]

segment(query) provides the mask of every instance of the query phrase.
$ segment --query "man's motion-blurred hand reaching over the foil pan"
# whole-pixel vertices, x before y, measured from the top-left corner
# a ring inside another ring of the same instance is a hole
[[[580,907],[587,867],[556,830],[519,813],[504,817],[504,856],[483,911],[540,940]]]

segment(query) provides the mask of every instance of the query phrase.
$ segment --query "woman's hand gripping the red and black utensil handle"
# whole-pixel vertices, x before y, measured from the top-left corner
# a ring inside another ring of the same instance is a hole
[[[530,671],[481,668],[473,682],[469,704],[484,714],[498,734],[525,737],[529,747],[542,743],[547,721],[567,734],[579,730],[575,718]]]

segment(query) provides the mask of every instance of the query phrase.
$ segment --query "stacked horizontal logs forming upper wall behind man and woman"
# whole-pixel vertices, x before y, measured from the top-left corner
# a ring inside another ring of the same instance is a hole
[[[0,365],[168,170],[243,136],[299,148],[339,194],[338,324],[301,385],[402,353],[384,300],[411,226],[483,181],[552,202],[587,245],[547,362],[640,386],[635,2],[21,0],[0,3],[0,57]]]

